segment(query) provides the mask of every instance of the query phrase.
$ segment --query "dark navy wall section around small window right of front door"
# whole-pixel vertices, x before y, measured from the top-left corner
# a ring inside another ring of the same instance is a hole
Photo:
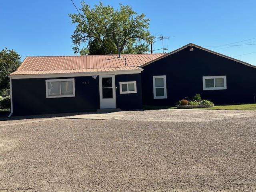
[[[119,82],[136,81],[137,93],[120,94]],[[116,75],[116,107],[122,110],[142,109],[141,74]]]

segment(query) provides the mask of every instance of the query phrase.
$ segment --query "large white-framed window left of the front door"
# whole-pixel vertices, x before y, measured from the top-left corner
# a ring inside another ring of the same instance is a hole
[[[74,97],[75,79],[45,80],[46,98]]]

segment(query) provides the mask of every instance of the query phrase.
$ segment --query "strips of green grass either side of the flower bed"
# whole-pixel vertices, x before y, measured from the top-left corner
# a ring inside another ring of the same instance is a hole
[[[177,109],[175,106],[144,106],[145,110],[150,109]],[[236,104],[236,105],[216,105],[210,108],[194,108],[194,109],[226,109],[226,110],[256,110],[256,104]]]

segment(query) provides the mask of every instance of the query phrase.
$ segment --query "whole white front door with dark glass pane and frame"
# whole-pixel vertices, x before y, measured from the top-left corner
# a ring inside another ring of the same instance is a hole
[[[100,75],[100,108],[116,108],[115,75]]]

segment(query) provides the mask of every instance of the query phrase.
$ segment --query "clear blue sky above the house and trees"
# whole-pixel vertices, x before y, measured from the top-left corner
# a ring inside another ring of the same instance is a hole
[[[73,1],[81,7],[81,0]],[[99,3],[85,2],[91,7]],[[122,3],[138,14],[146,14],[151,34],[170,37],[164,40],[164,48],[168,49],[165,52],[191,42],[256,65],[255,0],[102,0],[102,3],[114,8]],[[75,55],[70,36],[76,26],[71,24],[68,13],[77,13],[71,0],[1,0],[0,50],[14,49],[22,56],[21,60],[26,56]],[[226,44],[239,46],[222,46]],[[162,41],[156,39],[153,50],[160,48]],[[157,52],[162,50],[154,51]]]

